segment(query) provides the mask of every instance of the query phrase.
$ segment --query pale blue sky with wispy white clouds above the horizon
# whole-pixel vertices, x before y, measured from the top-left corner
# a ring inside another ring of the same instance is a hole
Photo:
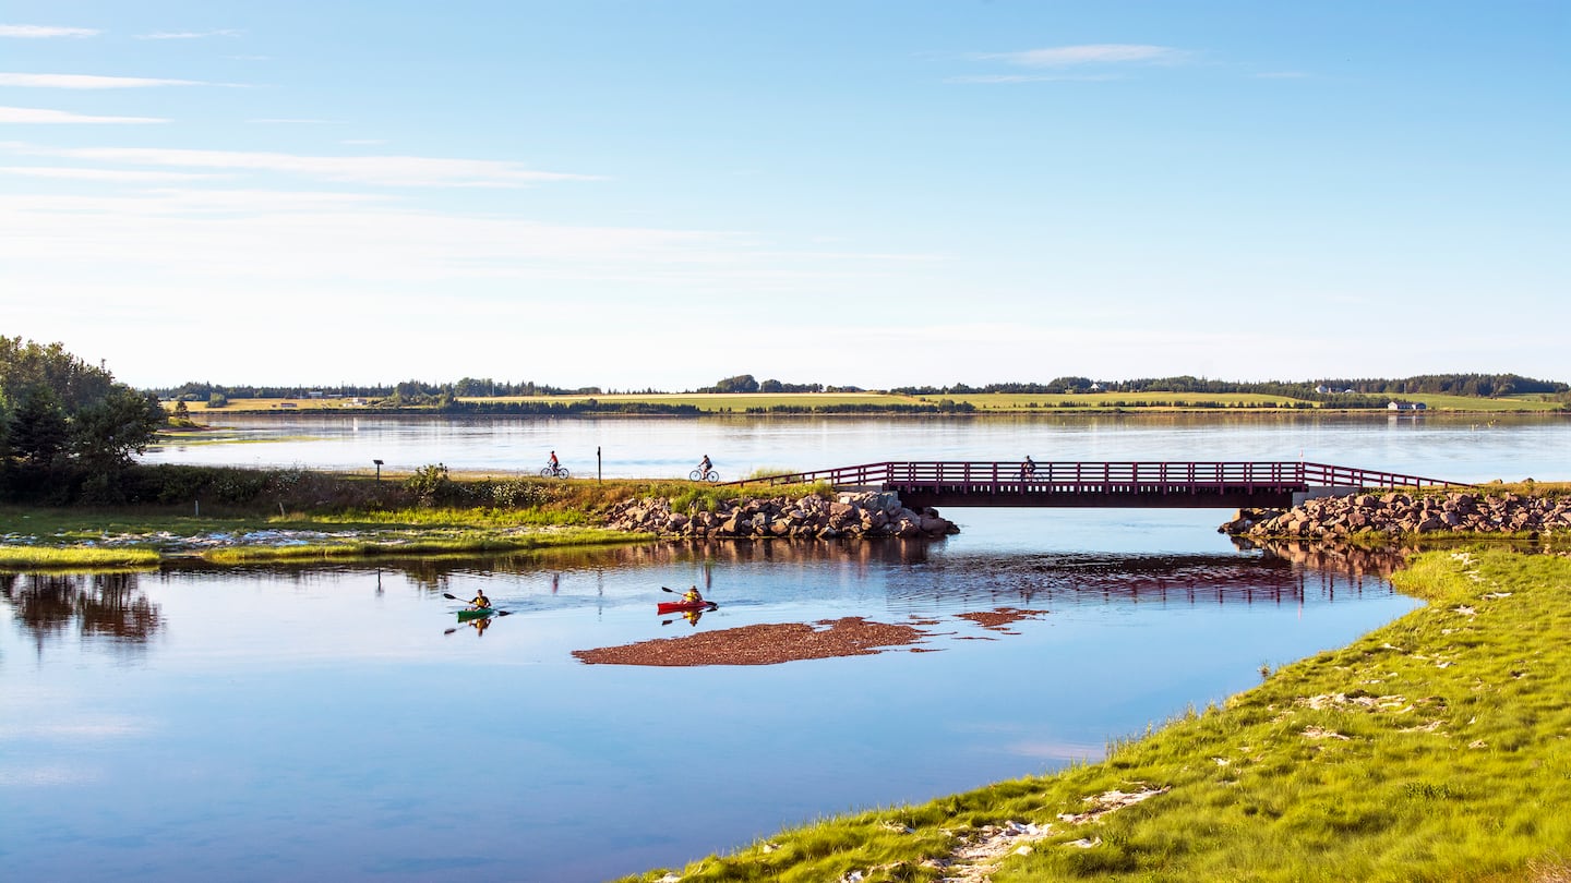
[[[0,6],[0,333],[134,385],[1571,379],[1558,2]]]

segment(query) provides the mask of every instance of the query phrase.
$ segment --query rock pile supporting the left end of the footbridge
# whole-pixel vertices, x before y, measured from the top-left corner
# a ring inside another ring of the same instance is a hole
[[[606,512],[606,526],[619,531],[705,539],[858,539],[943,537],[960,533],[936,509],[906,509],[894,493],[842,493],[723,500],[713,512],[672,509],[669,500],[625,500]]]

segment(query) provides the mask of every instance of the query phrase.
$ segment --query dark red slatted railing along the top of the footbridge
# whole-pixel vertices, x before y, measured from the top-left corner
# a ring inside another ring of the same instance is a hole
[[[1087,489],[1181,487],[1365,487],[1397,489],[1461,485],[1461,482],[1356,467],[1309,462],[1064,462],[1020,460],[889,460],[804,473],[743,479],[731,484],[812,484],[836,487],[993,487],[1012,492],[1076,492]],[[1466,487],[1466,485],[1463,485]]]

